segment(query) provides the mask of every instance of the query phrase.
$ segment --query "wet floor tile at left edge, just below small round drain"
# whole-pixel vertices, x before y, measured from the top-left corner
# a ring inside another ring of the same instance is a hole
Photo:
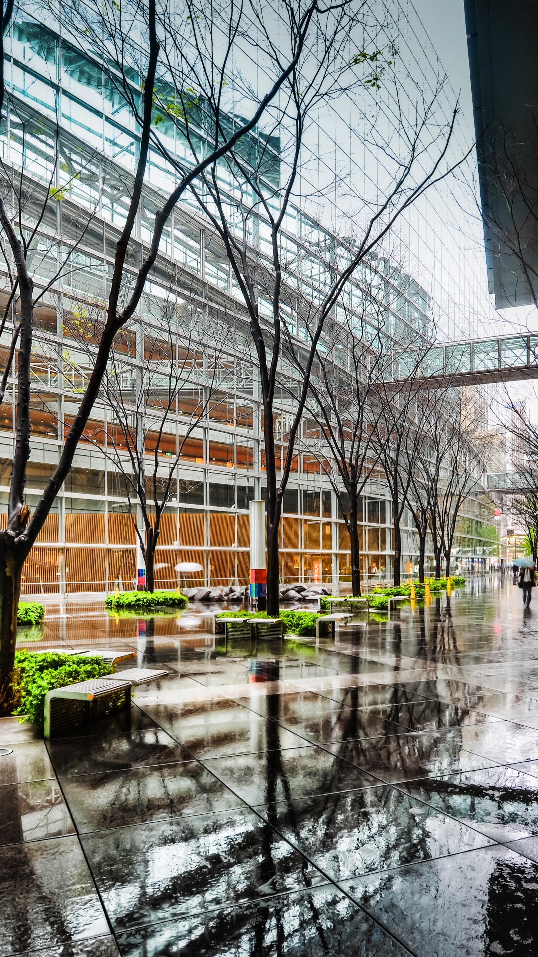
[[[55,779],[0,787],[0,844],[75,833]]]

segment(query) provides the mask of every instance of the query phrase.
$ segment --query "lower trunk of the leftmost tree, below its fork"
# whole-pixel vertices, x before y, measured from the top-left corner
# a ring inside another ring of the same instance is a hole
[[[11,536],[0,537],[0,701],[11,699],[11,675],[17,642],[17,611],[26,554],[17,554]]]

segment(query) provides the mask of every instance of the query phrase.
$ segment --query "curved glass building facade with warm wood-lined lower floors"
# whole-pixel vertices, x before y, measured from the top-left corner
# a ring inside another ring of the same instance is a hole
[[[35,309],[32,456],[27,481],[27,501],[32,509],[55,469],[91,368],[91,350],[82,322],[85,316],[80,320],[79,334],[77,320],[84,310],[99,311],[106,298],[135,169],[138,133],[132,112],[118,95],[113,68],[104,68],[49,27],[18,14],[6,50],[11,100],[1,130],[2,150],[4,163],[14,177],[22,169],[27,177],[23,226],[29,230],[34,227],[36,209],[48,189],[45,184],[52,182],[56,190],[56,198],[46,204],[31,261],[36,289],[40,283],[44,290],[46,287]],[[140,98],[140,78],[134,72],[130,82],[132,97]],[[203,112],[203,102],[197,109]],[[229,122],[232,126],[235,118],[230,117]],[[170,123],[167,129],[165,120],[159,132],[168,137],[168,148],[187,161],[188,150],[177,124]],[[278,186],[278,137],[268,141],[255,130],[246,139],[244,149],[253,155],[263,150],[263,174],[269,183]],[[151,237],[155,212],[161,208],[163,193],[173,186],[173,177],[173,170],[159,151],[151,149],[150,186],[144,192],[129,250],[128,268],[133,281]],[[222,177],[226,182],[225,167]],[[28,189],[29,182],[34,184],[33,189]],[[93,211],[91,216],[89,210]],[[306,295],[316,300],[328,280],[324,260],[317,251],[330,248],[342,261],[352,255],[352,247],[296,207],[290,207],[284,226],[282,241],[290,259],[297,261],[303,292],[306,290]],[[263,256],[270,235],[262,216],[250,239]],[[65,263],[61,270],[60,263]],[[362,273],[347,283],[351,310],[355,303],[361,303],[361,283],[366,281],[370,287],[375,286],[383,308],[387,343],[405,349],[417,340],[426,341],[435,305],[426,290],[389,258],[372,259],[361,268]],[[6,292],[3,298],[7,300]],[[124,377],[126,395],[131,388],[129,377],[136,378],[148,364],[154,371],[162,361],[157,353],[155,359],[152,356],[160,343],[170,298],[176,304],[188,300],[186,307],[200,335],[196,349],[186,359],[190,382],[180,390],[176,408],[168,415],[166,440],[158,443],[163,476],[168,474],[167,458],[179,459],[161,527],[156,585],[177,585],[174,567],[178,561],[202,566],[199,575],[191,576],[191,584],[245,585],[249,574],[248,506],[252,499],[263,498],[265,484],[258,368],[240,291],[225,251],[215,239],[211,223],[188,196],[168,221],[140,309],[118,341],[116,362]],[[261,294],[258,306],[262,315],[264,311],[269,314],[270,303],[264,302]],[[339,322],[338,309],[334,321]],[[301,342],[305,333],[300,310],[294,322],[295,336]],[[177,354],[185,338],[185,325],[180,319],[168,326],[168,332],[170,328]],[[221,344],[218,350],[214,347],[217,336]],[[5,334],[0,347],[6,349],[8,343]],[[164,354],[167,344],[163,341],[161,345]],[[339,362],[345,370],[345,347]],[[283,366],[281,375],[289,377],[292,370]],[[160,427],[159,386],[155,382],[153,378],[153,388],[146,396],[148,460],[155,455],[154,436]],[[16,389],[11,379],[0,408],[0,495],[4,511],[15,403]],[[204,413],[192,427],[192,410],[200,403]],[[276,406],[281,424],[279,432],[277,422],[281,461],[286,417],[290,414],[286,389],[280,387]],[[319,456],[309,450],[313,434],[315,428],[304,416],[283,501],[281,580],[347,582],[347,529]],[[26,592],[103,591],[113,589],[119,580],[125,586],[135,580],[137,545],[132,508],[115,456],[122,456],[121,426],[103,394],[79,444],[74,467],[25,567]],[[466,512],[457,542],[460,555],[496,554],[487,498],[469,501]],[[365,488],[359,516],[364,575],[390,577],[392,517],[381,475],[374,474]],[[415,568],[417,554],[407,509],[402,544],[405,573]]]

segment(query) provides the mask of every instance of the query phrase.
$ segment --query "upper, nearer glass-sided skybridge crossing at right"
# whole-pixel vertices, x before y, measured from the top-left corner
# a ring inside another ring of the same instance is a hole
[[[388,372],[386,383],[424,381],[432,389],[538,379],[538,334],[471,339],[394,352]]]

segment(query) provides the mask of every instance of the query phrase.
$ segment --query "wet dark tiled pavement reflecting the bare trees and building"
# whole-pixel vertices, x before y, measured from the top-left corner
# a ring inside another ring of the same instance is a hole
[[[192,609],[50,606],[27,647],[132,649],[169,675],[48,743],[0,721],[0,954],[538,953],[538,598],[520,602],[475,579],[336,643],[227,651]]]

